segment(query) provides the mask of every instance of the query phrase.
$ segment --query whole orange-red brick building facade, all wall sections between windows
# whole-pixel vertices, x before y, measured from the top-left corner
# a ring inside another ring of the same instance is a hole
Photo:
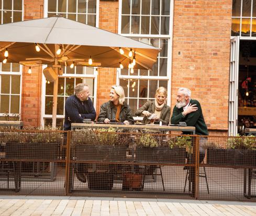
[[[120,33],[120,1],[98,1],[99,28]],[[47,3],[24,0],[23,19],[47,17]],[[190,88],[192,97],[202,105],[210,134],[227,134],[232,1],[170,0],[170,5],[168,103],[172,109],[177,89]],[[94,95],[97,113],[100,105],[108,100],[109,87],[116,84],[117,74],[117,69],[98,70]],[[42,66],[33,68],[31,74],[23,69],[21,77],[21,120],[26,126],[40,126],[44,105]]]

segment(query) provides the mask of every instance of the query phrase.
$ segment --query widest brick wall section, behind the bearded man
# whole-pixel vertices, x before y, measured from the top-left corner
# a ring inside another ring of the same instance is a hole
[[[231,0],[174,1],[172,107],[192,90],[209,129],[228,129]],[[216,133],[216,131],[214,132]]]

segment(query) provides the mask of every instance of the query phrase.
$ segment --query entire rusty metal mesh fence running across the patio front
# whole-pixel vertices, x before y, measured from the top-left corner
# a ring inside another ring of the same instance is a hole
[[[254,137],[0,131],[0,194],[256,200]]]

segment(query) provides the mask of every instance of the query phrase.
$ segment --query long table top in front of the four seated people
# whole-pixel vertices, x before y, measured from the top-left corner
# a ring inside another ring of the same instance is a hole
[[[97,123],[71,123],[71,129],[75,128],[121,128],[121,129],[133,129],[133,130],[160,130],[160,131],[187,131],[195,134],[195,127],[187,126],[159,126],[157,124],[97,124]]]

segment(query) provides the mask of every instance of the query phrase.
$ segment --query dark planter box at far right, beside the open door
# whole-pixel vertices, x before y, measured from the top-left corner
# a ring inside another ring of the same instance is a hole
[[[238,149],[207,149],[207,164],[256,166],[256,151]]]

